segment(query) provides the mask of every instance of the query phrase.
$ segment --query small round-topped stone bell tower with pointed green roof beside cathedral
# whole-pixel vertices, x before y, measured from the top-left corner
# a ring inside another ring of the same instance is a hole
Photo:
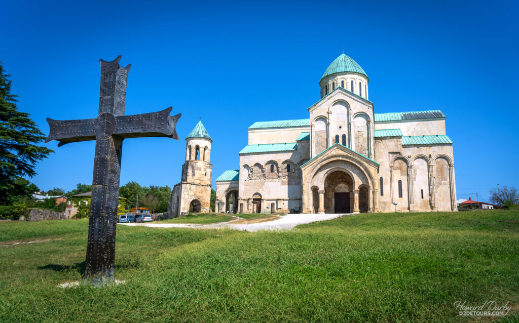
[[[188,136],[186,138],[186,161],[182,165],[181,182],[173,187],[168,204],[168,212],[173,217],[188,213],[211,212],[213,173],[213,165],[209,162],[211,143],[210,137]]]

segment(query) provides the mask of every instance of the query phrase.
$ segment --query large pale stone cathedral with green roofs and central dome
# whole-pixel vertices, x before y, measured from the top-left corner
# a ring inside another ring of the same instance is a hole
[[[319,81],[321,99],[308,119],[252,124],[239,169],[216,179],[216,211],[457,210],[445,115],[375,113],[368,81],[343,53]]]

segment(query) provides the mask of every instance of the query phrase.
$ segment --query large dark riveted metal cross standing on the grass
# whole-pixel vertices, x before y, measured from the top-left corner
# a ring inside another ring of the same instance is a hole
[[[156,113],[125,116],[126,82],[131,64],[99,60],[101,91],[99,115],[95,119],[52,120],[46,143],[64,144],[95,140],[92,200],[88,228],[84,284],[102,285],[114,281],[115,228],[119,199],[122,140],[136,137],[170,137],[178,140],[172,108]]]

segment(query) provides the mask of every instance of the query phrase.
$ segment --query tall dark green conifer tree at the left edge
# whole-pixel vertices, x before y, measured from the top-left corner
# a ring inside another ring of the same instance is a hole
[[[44,141],[45,135],[28,113],[18,111],[17,95],[11,94],[8,77],[0,62],[0,205],[31,194],[32,187],[23,177],[36,175],[36,163],[53,152],[36,145]]]

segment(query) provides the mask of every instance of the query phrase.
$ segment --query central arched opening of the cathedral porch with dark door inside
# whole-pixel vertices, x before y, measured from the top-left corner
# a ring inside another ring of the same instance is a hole
[[[324,179],[324,212],[351,213],[353,208],[353,178],[336,170]]]

